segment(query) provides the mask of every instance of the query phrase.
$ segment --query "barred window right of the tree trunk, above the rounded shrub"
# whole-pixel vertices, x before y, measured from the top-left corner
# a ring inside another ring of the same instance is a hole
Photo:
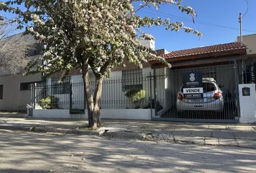
[[[122,90],[142,89],[142,69],[126,70],[122,72]]]

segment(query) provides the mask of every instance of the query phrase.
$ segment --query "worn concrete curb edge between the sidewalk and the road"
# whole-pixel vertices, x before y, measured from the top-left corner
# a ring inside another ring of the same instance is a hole
[[[35,133],[64,133],[73,135],[86,135],[86,136],[98,136],[105,138],[119,138],[119,139],[132,139],[142,141],[167,141],[169,143],[184,143],[184,144],[197,144],[207,146],[234,146],[241,148],[256,149],[256,141],[239,139],[239,143],[234,143],[234,139],[219,139],[219,138],[189,138],[184,136],[173,136],[172,138],[154,138],[148,133],[135,133],[127,131],[96,131],[96,130],[77,130],[77,129],[65,129],[65,128],[52,128],[45,126],[32,126],[32,125],[0,125],[0,129],[4,130],[22,130]],[[241,143],[241,144],[240,144]]]

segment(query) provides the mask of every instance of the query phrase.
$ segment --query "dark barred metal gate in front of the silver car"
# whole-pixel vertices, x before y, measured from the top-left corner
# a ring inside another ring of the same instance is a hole
[[[202,74],[203,97],[186,99],[183,74]],[[233,64],[156,70],[153,120],[239,123],[238,75]]]

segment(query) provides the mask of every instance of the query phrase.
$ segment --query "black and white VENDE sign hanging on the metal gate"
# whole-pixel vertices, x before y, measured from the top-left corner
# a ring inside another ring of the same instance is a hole
[[[183,74],[183,94],[186,99],[202,98],[202,73],[200,71]]]

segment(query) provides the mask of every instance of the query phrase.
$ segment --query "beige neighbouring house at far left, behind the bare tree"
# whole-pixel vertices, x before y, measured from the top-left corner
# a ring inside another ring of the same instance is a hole
[[[30,35],[25,37],[34,40]],[[35,50],[28,56],[30,58],[40,56],[40,46],[35,46]],[[0,110],[27,110],[26,105],[31,100],[30,85],[40,81],[41,74],[30,76],[23,74],[22,69],[15,75],[0,70]]]

